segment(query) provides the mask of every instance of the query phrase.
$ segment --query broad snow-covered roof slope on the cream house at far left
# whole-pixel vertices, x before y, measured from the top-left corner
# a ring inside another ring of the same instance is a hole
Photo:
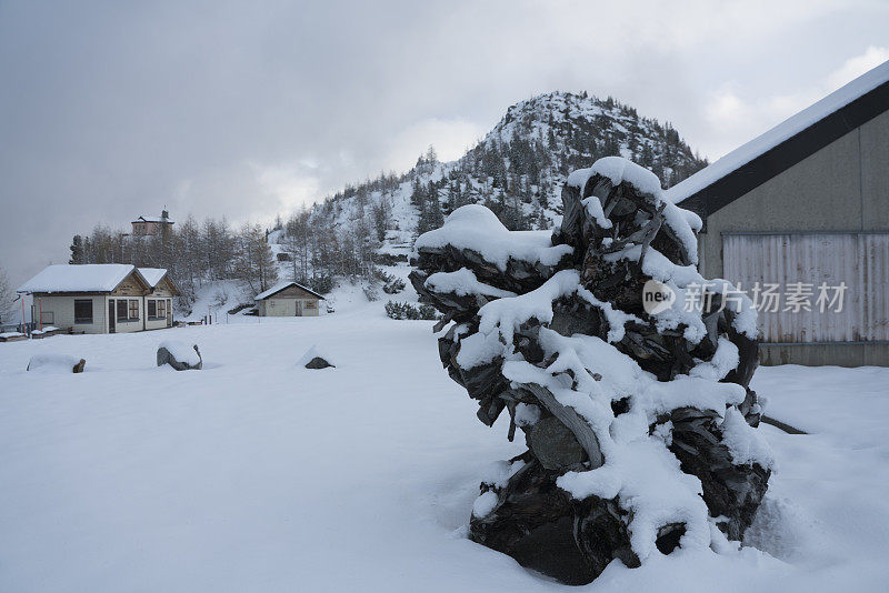
[[[48,265],[17,292],[111,292],[132,273],[144,281],[134,265],[126,263]]]

